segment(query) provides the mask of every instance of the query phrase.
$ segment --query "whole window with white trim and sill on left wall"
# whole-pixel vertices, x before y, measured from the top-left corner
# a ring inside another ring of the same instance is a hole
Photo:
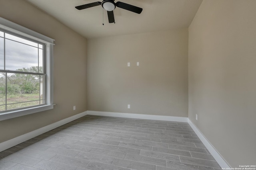
[[[0,120],[53,108],[53,41],[0,18]]]

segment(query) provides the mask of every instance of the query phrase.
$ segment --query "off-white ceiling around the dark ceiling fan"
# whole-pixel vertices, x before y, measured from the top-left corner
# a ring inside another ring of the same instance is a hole
[[[202,0],[115,0],[143,8],[136,14],[116,8],[116,23],[108,23],[103,8],[77,10],[75,6],[102,0],[27,0],[86,38],[126,35],[186,28],[192,22]]]

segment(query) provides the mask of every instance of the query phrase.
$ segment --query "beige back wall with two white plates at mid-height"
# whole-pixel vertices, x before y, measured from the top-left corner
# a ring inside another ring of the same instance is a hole
[[[87,62],[88,110],[188,117],[188,29],[88,39]]]

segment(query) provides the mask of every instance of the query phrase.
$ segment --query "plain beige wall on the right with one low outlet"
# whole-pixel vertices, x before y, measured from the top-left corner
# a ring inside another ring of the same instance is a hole
[[[189,119],[232,167],[256,163],[255,9],[204,0],[189,27]]]

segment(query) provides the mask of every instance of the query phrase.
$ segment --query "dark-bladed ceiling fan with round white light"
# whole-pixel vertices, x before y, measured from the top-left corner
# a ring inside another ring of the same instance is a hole
[[[115,0],[103,0],[102,2],[93,2],[93,3],[90,3],[90,4],[84,4],[84,5],[76,6],[75,8],[78,9],[78,10],[83,10],[83,9],[86,9],[86,8],[101,5],[102,8],[104,8],[108,12],[108,22],[109,23],[114,23],[115,22],[113,10],[116,8],[116,6],[119,7],[119,8],[128,10],[128,11],[131,11],[131,12],[135,12],[137,14],[140,14],[142,12],[142,8],[139,8],[137,6],[126,4],[124,2],[116,2],[115,3],[114,1]]]

